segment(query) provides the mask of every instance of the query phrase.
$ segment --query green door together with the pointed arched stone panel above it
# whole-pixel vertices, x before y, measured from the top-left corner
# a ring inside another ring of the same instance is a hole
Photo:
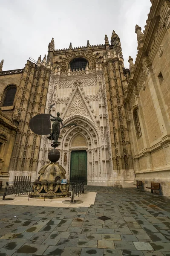
[[[84,180],[84,184],[87,184],[87,151],[83,150],[87,146],[86,140],[78,134],[71,146],[70,181]]]

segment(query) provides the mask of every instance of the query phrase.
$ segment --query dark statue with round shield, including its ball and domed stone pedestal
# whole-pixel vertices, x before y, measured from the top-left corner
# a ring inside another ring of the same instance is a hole
[[[51,109],[53,105],[55,104],[50,105],[48,114],[38,114],[32,117],[29,121],[29,127],[35,134],[49,135],[51,131],[50,136],[47,138],[53,140],[53,143],[51,144],[53,148],[48,151],[48,159],[51,163],[46,164],[39,170],[39,177],[35,180],[34,189],[30,195],[32,198],[41,198],[44,193],[46,193],[46,197],[48,198],[68,197],[71,195],[69,192],[69,184],[61,183],[61,180],[66,180],[66,170],[57,163],[60,159],[60,151],[56,148],[60,145],[60,142],[58,141],[60,130],[66,126],[77,125],[74,123],[63,125],[59,112],[57,112],[57,116],[52,116]],[[54,121],[52,123],[52,128],[50,120]],[[63,127],[60,128],[60,124]]]

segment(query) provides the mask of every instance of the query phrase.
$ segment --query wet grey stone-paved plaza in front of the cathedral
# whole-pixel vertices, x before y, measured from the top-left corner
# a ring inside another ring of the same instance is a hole
[[[170,198],[136,188],[85,192],[97,192],[90,207],[3,201],[0,256],[170,256]]]

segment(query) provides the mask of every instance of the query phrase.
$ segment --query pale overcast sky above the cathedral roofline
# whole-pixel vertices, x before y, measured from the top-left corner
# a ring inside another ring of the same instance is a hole
[[[29,57],[47,54],[52,37],[55,49],[104,44],[112,30],[121,38],[124,66],[135,61],[135,25],[146,25],[150,0],[0,0],[0,61],[3,71],[25,67]]]

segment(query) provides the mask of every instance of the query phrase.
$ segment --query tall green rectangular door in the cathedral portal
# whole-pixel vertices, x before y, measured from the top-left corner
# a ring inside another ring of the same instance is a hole
[[[70,181],[84,180],[87,184],[87,152],[72,151],[70,165]]]

